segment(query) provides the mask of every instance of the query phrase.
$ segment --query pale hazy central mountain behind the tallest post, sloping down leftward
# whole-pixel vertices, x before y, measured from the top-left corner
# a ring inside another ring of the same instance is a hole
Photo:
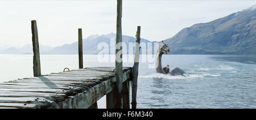
[[[110,43],[111,38],[113,38],[112,44]],[[123,35],[122,41],[127,46],[126,51],[123,51],[123,54],[129,54],[129,43],[134,44],[136,41],[135,37]],[[115,34],[114,33],[110,33],[108,35],[101,35],[101,36],[93,35],[93,36],[89,36],[88,38],[85,38],[83,40],[83,49],[84,49],[83,53],[98,54],[99,52],[102,51],[102,49],[97,48],[101,42],[104,42],[106,45],[108,45],[109,51],[105,52],[106,54],[115,54]],[[147,48],[147,43],[152,43],[152,42],[141,38],[141,43],[143,43],[144,45],[141,53],[147,54],[147,49],[145,49]],[[154,49],[154,46],[151,49]],[[123,46],[123,50],[125,50],[124,46]],[[135,50],[130,49],[130,54],[134,54],[134,52]],[[78,42],[57,46],[42,54],[78,54]]]

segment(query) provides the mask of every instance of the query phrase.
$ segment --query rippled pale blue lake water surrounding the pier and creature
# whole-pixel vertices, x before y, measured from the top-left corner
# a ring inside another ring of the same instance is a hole
[[[78,55],[40,58],[42,74],[78,68]],[[115,65],[99,62],[97,55],[84,59],[84,67]],[[180,67],[188,76],[156,74],[152,62],[141,62],[138,108],[256,108],[256,55],[163,55],[162,62],[171,69]],[[0,55],[0,67],[0,82],[33,76],[32,55]],[[105,105],[103,97],[98,106]]]

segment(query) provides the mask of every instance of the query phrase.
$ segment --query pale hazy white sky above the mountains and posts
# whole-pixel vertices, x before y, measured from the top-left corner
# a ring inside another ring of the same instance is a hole
[[[59,46],[83,37],[115,33],[116,1],[0,1],[0,45],[31,44],[31,20],[37,20],[39,42]],[[165,40],[185,27],[210,22],[256,5],[256,1],[123,0],[123,35]]]

